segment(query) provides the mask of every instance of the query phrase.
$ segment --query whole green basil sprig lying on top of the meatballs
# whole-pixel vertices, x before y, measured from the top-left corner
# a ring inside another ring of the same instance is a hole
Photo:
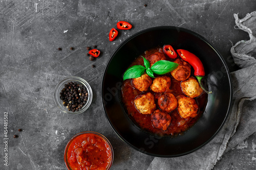
[[[171,61],[160,60],[160,61],[157,61],[155,64],[153,64],[152,67],[150,68],[150,62],[146,60],[144,57],[143,57],[143,60],[144,60],[145,67],[143,67],[142,65],[134,65],[128,68],[124,72],[123,80],[138,78],[141,75],[143,75],[145,70],[148,76],[155,78],[154,74],[164,75],[167,72],[173,71],[179,65]]]

